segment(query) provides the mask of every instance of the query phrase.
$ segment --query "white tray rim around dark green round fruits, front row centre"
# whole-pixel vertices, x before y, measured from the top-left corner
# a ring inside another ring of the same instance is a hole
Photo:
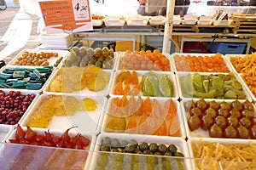
[[[132,136],[130,134],[118,134],[118,133],[111,133],[111,134],[100,134],[97,139],[96,139],[96,145],[95,145],[95,151],[94,154],[92,156],[91,161],[94,163],[91,163],[90,165],[90,169],[97,169],[97,159],[98,157],[103,154],[104,152],[99,151],[101,144],[102,144],[102,139],[104,137],[109,137],[111,139],[119,139],[119,140],[131,140],[134,139],[137,141],[138,144],[142,143],[142,142],[146,142],[146,143],[156,143],[156,144],[175,144],[177,146],[177,151],[183,153],[184,155],[184,169],[190,169],[191,168],[191,162],[188,159],[189,157],[189,152],[188,152],[188,145],[186,143],[186,141],[184,139],[180,139],[180,138],[172,138],[172,137],[157,137],[157,136],[152,136],[152,135],[139,135],[139,134],[133,134]],[[110,152],[113,154],[116,154],[116,152]],[[120,154],[124,154],[124,153],[120,153]],[[125,154],[126,155],[126,154]],[[142,161],[145,159],[147,159],[147,156],[149,155],[138,155],[138,154],[132,154],[132,156],[140,156],[138,157],[138,159],[142,159]],[[166,157],[166,156],[159,156],[159,157]],[[168,159],[166,157],[166,159]],[[145,166],[145,164],[143,164],[143,167]]]

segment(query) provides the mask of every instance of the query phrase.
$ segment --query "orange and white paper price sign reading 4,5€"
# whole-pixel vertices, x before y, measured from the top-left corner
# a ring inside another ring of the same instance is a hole
[[[48,34],[93,30],[89,0],[39,1],[39,6]]]

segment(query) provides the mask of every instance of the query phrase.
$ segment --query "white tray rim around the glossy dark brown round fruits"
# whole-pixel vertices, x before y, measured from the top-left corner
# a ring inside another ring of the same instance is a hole
[[[209,133],[208,131],[206,130],[203,130],[201,127],[199,127],[198,129],[194,130],[194,131],[191,131],[189,129],[189,124],[188,124],[188,120],[189,120],[189,111],[186,111],[187,109],[185,107],[189,107],[190,105],[190,102],[191,102],[192,99],[184,99],[181,101],[181,111],[183,113],[183,121],[184,121],[184,127],[185,127],[185,130],[186,130],[186,134],[187,134],[187,137],[188,139],[191,139],[191,138],[211,138],[209,136]],[[193,99],[194,102],[198,101],[199,99]],[[221,102],[223,101],[226,101],[227,103],[231,103],[232,101],[230,100],[223,100],[223,99],[204,99],[207,103],[212,101],[212,100],[215,100],[218,104],[220,104]],[[235,101],[235,100],[233,100]],[[240,101],[241,103],[244,102],[244,100],[238,100]],[[253,107],[254,107],[254,116],[256,116],[256,107],[255,105],[253,104]],[[227,139],[227,138],[225,138]]]

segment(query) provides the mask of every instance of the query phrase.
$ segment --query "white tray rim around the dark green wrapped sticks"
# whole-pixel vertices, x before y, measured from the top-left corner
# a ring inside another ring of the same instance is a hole
[[[35,69],[35,68],[42,68],[43,66],[28,66],[28,65],[4,65],[1,69],[0,72],[2,73],[5,69],[14,69],[14,68],[26,68],[26,69]],[[53,67],[53,70],[51,72],[51,74],[49,75],[48,79],[46,80],[46,82],[44,82],[44,85],[38,89],[38,90],[32,90],[32,89],[21,89],[21,88],[0,88],[0,90],[5,90],[5,89],[14,89],[14,90],[19,90],[20,92],[32,92],[34,94],[40,94],[42,93],[44,87],[46,86],[46,84],[49,82],[49,79],[54,75],[55,72],[55,67]]]

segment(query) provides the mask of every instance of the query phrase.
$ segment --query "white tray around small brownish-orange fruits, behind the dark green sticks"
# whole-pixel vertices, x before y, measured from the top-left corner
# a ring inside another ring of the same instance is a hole
[[[22,54],[23,54],[24,52],[26,52],[26,51],[29,52],[29,53],[37,53],[37,54],[40,54],[41,52],[44,52],[44,53],[57,53],[57,54],[58,54],[58,57],[51,57],[51,58],[47,59],[48,62],[49,62],[49,65],[51,65],[51,66],[54,66],[55,63],[56,63],[56,61],[57,61],[58,59],[61,59],[61,57],[62,57],[62,59],[63,59],[63,58],[65,58],[65,57],[67,56],[67,54],[68,54],[68,51],[67,51],[67,50],[48,50],[48,49],[42,50],[42,49],[26,48],[26,49],[21,50],[19,54],[17,54],[13,59],[11,59],[11,60],[9,61],[8,65],[15,65],[15,61],[16,61],[18,58],[20,58],[20,56],[22,56]],[[25,65],[20,65],[20,66],[25,66]]]

